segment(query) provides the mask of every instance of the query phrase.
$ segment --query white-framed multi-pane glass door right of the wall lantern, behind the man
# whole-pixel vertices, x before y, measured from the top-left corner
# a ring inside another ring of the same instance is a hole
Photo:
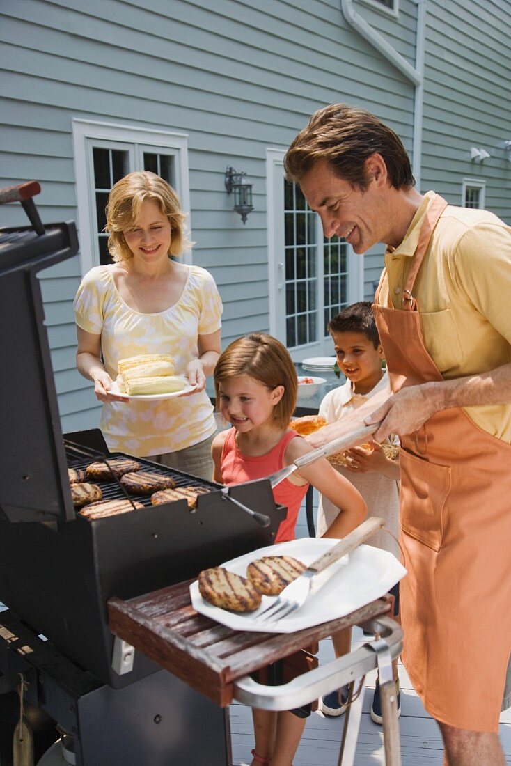
[[[300,186],[283,174],[280,149],[267,149],[270,333],[292,358],[331,353],[326,325],[364,294],[364,259],[338,237],[323,236]]]

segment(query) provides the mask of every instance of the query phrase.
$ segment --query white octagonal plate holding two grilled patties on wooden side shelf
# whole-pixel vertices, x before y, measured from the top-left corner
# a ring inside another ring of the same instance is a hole
[[[294,556],[304,564],[311,564],[316,558],[325,553],[337,540],[331,538],[300,538],[290,542],[280,542],[268,545],[232,561],[223,566],[237,575],[246,577],[247,565],[255,558],[262,556]],[[405,567],[388,551],[372,548],[371,545],[360,545],[359,548],[331,565],[336,569],[335,575],[313,594],[303,607],[289,617],[271,624],[257,623],[260,614],[277,596],[263,596],[259,609],[249,613],[229,612],[220,607],[208,604],[198,592],[198,581],[190,585],[192,606],[199,614],[211,617],[232,630],[255,630],[261,633],[294,633],[304,630],[337,617],[344,617],[355,609],[375,601],[392,588],[406,575]]]

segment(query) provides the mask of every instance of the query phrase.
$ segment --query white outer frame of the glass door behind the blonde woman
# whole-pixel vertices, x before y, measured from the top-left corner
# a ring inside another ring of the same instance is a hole
[[[97,143],[96,143],[97,142]],[[187,235],[192,238],[190,220],[190,179],[188,175],[188,134],[162,130],[98,123],[87,119],[73,119],[74,169],[77,184],[77,226],[80,239],[81,273],[87,273],[99,265],[97,251],[95,214],[93,209],[92,148],[106,142],[111,149],[126,149],[136,167],[142,169],[140,153],[158,152],[159,149],[175,155],[175,187],[181,200],[182,210],[188,214]],[[103,146],[106,146],[106,143]],[[121,144],[123,146],[121,146]],[[185,264],[192,263],[192,251],[182,254]]]

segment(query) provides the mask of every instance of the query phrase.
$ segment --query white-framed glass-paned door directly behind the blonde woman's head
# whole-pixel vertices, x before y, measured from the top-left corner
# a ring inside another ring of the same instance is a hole
[[[182,208],[189,211],[187,136],[157,130],[90,123],[73,123],[77,168],[77,203],[82,273],[111,262],[105,205],[113,185],[133,170],[161,175],[177,191]],[[190,262],[190,253],[183,254]]]

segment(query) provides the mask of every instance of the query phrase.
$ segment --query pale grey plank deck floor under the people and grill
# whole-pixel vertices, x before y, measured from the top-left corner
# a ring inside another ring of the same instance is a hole
[[[300,511],[296,528],[298,537],[308,535],[304,507]],[[353,630],[353,648],[364,640],[362,630]],[[323,640],[319,646],[319,662],[326,663],[334,657],[332,642]],[[376,671],[368,676],[363,704],[359,741],[355,754],[355,766],[377,766],[385,764],[382,727],[372,722],[370,709],[375,686]],[[401,684],[401,735],[402,766],[441,766],[443,747],[437,724],[427,712],[411,687],[405,668],[399,664]],[[315,712],[307,719],[300,748],[296,753],[294,766],[337,766],[342,738],[344,716],[326,718]],[[506,754],[506,763],[511,764],[511,709],[500,718],[500,738]],[[231,737],[234,766],[251,763],[251,748],[254,747],[251,709],[247,705],[231,705]]]

